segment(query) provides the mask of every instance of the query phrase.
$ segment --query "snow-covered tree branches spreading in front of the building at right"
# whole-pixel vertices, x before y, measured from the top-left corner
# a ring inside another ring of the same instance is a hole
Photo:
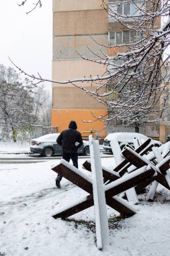
[[[113,56],[101,51],[99,56],[90,48],[89,51],[95,56],[94,59],[78,54],[85,61],[104,65],[105,73],[98,73],[93,77],[89,75],[67,81],[54,81],[39,74],[30,75],[13,61],[11,62],[20,72],[32,78],[34,84],[40,82],[52,82],[65,86],[72,84],[85,91],[89,96],[107,106],[110,113],[108,117],[96,117],[96,119],[110,121],[110,119],[119,118],[126,119],[128,123],[159,120],[167,108],[167,100],[163,106],[161,101],[163,97],[166,98],[169,85],[166,67],[170,57],[168,53],[170,1],[120,0],[108,3],[103,0],[102,7],[108,12],[109,22],[122,26],[122,33],[124,33],[122,41],[118,42],[116,31],[110,30],[108,45],[97,42],[92,36],[91,38],[99,49],[101,46],[107,51],[112,49]],[[161,18],[165,17],[167,21],[161,26]]]

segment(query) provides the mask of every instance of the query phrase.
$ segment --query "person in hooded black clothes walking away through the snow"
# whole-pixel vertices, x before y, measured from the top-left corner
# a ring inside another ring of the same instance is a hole
[[[78,168],[78,154],[77,150],[83,145],[83,139],[81,133],[77,131],[77,123],[71,121],[69,123],[69,129],[60,133],[56,139],[58,145],[62,146],[62,158],[67,162],[72,160],[73,166]],[[60,174],[56,177],[56,187],[60,188],[60,181],[62,176]]]

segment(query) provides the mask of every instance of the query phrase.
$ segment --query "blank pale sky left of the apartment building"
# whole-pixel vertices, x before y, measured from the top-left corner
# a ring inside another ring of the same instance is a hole
[[[29,0],[25,7],[17,3],[22,0],[1,0],[0,3],[0,63],[16,65],[31,74],[38,72],[51,78],[52,67],[52,0],[43,0],[42,8],[34,7],[35,0]],[[50,84],[48,84],[50,87]]]

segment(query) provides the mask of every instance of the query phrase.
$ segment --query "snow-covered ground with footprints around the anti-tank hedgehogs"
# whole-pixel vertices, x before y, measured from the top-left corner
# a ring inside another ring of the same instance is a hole
[[[1,151],[12,146],[0,143]],[[16,147],[16,146],[15,146]],[[20,147],[19,150],[26,150]],[[13,148],[14,150],[14,148]],[[16,150],[16,148],[15,148]],[[0,154],[1,157],[1,154]],[[110,243],[108,251],[95,245],[94,208],[55,220],[52,215],[87,195],[66,179],[56,188],[51,166],[60,160],[36,164],[1,164],[0,167],[0,255],[7,256],[167,256],[170,253],[170,191],[159,185],[153,203],[135,205],[136,214],[122,218],[108,207]],[[79,169],[85,159],[79,159]],[[101,158],[114,167],[114,158]]]

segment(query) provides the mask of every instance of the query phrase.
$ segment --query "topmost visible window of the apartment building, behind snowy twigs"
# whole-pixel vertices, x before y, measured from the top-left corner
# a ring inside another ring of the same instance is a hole
[[[109,22],[118,22],[118,20],[114,18],[114,13],[118,13],[118,15],[122,16],[130,16],[122,19],[124,19],[124,22],[132,22],[134,20],[132,16],[140,15],[142,4],[143,1],[115,2],[110,0],[108,3]]]

